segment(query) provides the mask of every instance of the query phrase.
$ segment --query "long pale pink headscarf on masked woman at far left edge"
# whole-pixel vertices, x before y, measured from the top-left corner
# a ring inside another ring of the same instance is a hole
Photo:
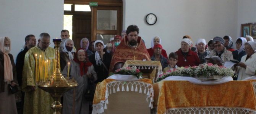
[[[9,50],[5,51],[5,39],[10,41]],[[3,66],[4,66],[4,82],[10,83],[13,81],[13,67],[11,65],[11,59],[9,57],[9,52],[11,51],[11,40],[8,37],[1,37],[0,38],[0,51],[3,52]]]

